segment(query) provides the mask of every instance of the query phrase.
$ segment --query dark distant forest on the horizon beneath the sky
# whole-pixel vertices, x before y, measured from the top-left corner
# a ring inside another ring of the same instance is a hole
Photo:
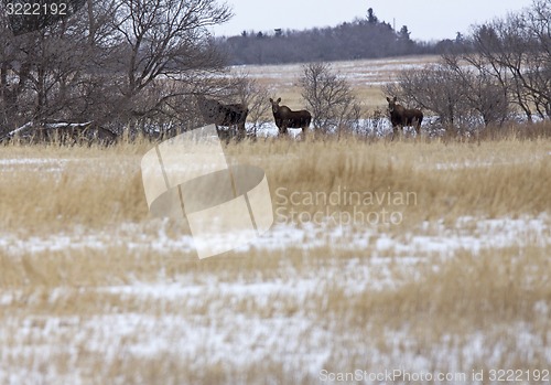
[[[364,19],[337,26],[304,31],[244,31],[241,35],[218,39],[228,54],[229,64],[283,64],[315,61],[377,58],[413,54],[439,54],[455,41],[418,42],[410,38],[407,25],[396,31],[379,21],[370,8]]]

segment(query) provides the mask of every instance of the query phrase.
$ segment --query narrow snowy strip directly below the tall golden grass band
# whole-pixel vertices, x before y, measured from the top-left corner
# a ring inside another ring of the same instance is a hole
[[[543,213],[537,217],[477,218],[464,216],[452,225],[443,221],[423,222],[418,228],[409,228],[398,236],[391,236],[383,227],[369,225],[302,225],[276,223],[263,236],[236,253],[255,250],[285,250],[299,248],[315,249],[331,245],[334,250],[369,250],[371,261],[380,263],[378,254],[385,252],[399,257],[414,257],[424,254],[451,256],[458,249],[479,253],[484,248],[505,248],[509,246],[537,247],[551,246],[551,217]],[[193,253],[193,237],[168,235],[168,221],[154,220],[151,223],[126,223],[109,231],[89,231],[74,227],[71,232],[21,238],[19,233],[3,232],[0,248],[4,255],[20,256],[29,253],[45,253],[79,249],[105,249],[125,246],[128,250],[152,249],[159,254]],[[386,258],[383,258],[386,259]]]

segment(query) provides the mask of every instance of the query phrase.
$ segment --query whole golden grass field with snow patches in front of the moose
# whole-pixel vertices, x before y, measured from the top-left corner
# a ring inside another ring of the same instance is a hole
[[[519,138],[230,143],[276,223],[203,260],[148,214],[151,143],[3,147],[0,383],[543,378],[551,141]]]

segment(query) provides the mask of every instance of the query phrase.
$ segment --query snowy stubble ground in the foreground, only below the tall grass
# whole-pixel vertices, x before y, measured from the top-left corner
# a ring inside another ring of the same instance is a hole
[[[62,316],[48,316],[47,311],[30,311],[23,317],[4,316],[0,328],[0,362],[15,361],[20,365],[0,365],[0,382],[87,384],[90,376],[110,378],[109,365],[89,373],[85,361],[83,363],[89,356],[96,356],[96,360],[99,356],[111,364],[120,357],[131,357],[137,362],[162,357],[161,361],[177,362],[191,372],[223,365],[233,368],[229,372],[234,373],[261,367],[270,361],[281,365],[288,375],[292,373],[296,382],[311,383],[317,383],[326,373],[323,371],[348,368],[346,357],[358,355],[368,359],[365,361],[368,366],[361,366],[361,361],[356,363],[358,370],[366,371],[402,368],[433,373],[435,367],[441,367],[463,373],[466,368],[478,367],[478,360],[487,356],[495,356],[496,364],[499,364],[507,347],[495,345],[495,335],[491,334],[474,332],[455,342],[456,336],[450,334],[429,351],[417,353],[413,347],[404,347],[414,331],[408,327],[401,330],[389,327],[385,331],[388,341],[381,351],[382,347],[369,342],[374,338],[371,333],[380,332],[370,330],[369,324],[361,334],[357,329],[341,333],[334,328],[337,320],[328,316],[320,322],[312,317],[312,311],[314,308],[323,311],[323,303],[327,300],[324,293],[336,287],[352,297],[396,289],[420,279],[425,271],[423,268],[437,268],[457,250],[479,254],[484,249],[527,246],[551,247],[549,214],[516,218],[464,216],[449,225],[425,222],[393,237],[383,228],[277,224],[264,236],[237,249],[231,256],[267,252],[269,258],[274,258],[273,253],[279,253],[281,261],[274,267],[277,277],[264,278],[260,274],[257,278],[237,276],[228,279],[219,271],[183,272],[174,277],[160,270],[151,280],[134,279],[89,288],[62,286],[46,288],[30,297],[23,289],[4,290],[0,296],[3,307],[13,307],[25,298],[26,306],[32,309],[33,302],[37,301],[34,296],[47,296],[52,306],[71,303],[73,297],[94,292],[98,300],[117,297],[120,309],[105,299],[105,309],[89,317],[72,311],[66,316],[63,312]],[[73,228],[43,237],[20,238],[15,233],[4,232],[0,239],[4,258],[54,252],[71,255],[105,250],[109,254],[114,247],[123,247],[126,253],[136,255],[190,254],[188,261],[195,258],[192,237],[175,238],[168,222],[162,220],[145,225],[126,223],[108,232]],[[317,263],[321,265],[312,263],[310,268],[298,269],[284,258],[291,249],[299,250],[306,260],[317,249],[331,255]],[[337,257],[343,254],[348,257]],[[129,311],[125,303],[136,303],[136,308]],[[289,312],[290,308],[294,310]],[[262,314],[262,309],[270,309],[270,313]],[[539,303],[536,311],[549,317],[549,303]],[[551,347],[541,343],[529,324],[519,323],[514,328],[515,332],[511,330],[508,338],[516,341],[517,349],[525,346],[525,354],[544,352],[547,360],[551,361]],[[355,339],[365,341],[350,343]],[[339,344],[352,346],[353,351],[336,356]],[[442,352],[446,352],[445,357]],[[55,360],[66,360],[66,365],[74,370],[62,371],[58,365],[46,370],[47,363]],[[486,364],[491,363],[486,360]],[[127,379],[111,378],[110,383],[122,384]],[[247,383],[238,376],[228,381]],[[279,382],[274,379],[273,383]]]

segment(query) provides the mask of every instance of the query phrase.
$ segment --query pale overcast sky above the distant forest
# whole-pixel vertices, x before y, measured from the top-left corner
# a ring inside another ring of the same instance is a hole
[[[273,29],[304,30],[334,26],[355,18],[364,18],[372,8],[379,21],[399,30],[408,25],[413,40],[454,39],[468,33],[469,25],[505,17],[532,0],[226,0],[234,18],[216,26],[217,36],[241,31],[272,32]]]

